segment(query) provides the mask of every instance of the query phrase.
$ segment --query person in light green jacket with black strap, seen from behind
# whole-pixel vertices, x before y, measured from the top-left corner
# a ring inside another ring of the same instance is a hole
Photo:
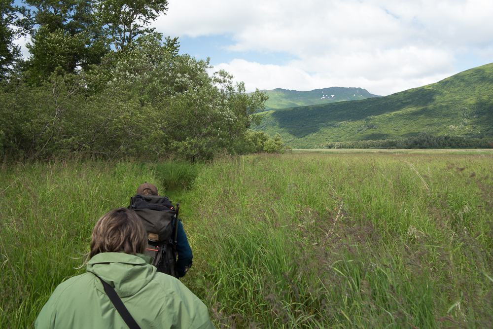
[[[35,328],[128,328],[98,275],[141,329],[214,329],[206,305],[178,279],[156,272],[151,257],[141,255],[146,245],[145,229],[134,212],[119,208],[103,215],[92,232],[87,272],[58,285]]]

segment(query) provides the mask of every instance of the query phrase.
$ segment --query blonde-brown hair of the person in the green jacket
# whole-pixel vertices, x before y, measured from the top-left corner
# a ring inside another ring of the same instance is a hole
[[[103,215],[94,226],[88,258],[99,253],[143,254],[146,246],[139,216],[127,208],[118,208]]]

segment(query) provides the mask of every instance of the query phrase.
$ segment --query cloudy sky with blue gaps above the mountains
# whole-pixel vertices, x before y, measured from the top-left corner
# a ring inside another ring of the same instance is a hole
[[[247,91],[386,96],[493,62],[492,0],[169,0],[154,24]]]

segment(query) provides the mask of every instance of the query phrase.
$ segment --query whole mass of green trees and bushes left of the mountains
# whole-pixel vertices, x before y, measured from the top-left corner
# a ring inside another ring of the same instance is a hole
[[[31,55],[0,86],[4,153],[207,160],[285,149],[279,137],[249,130],[264,93],[211,74],[209,59],[180,55],[178,38],[147,27],[167,1],[25,3]]]

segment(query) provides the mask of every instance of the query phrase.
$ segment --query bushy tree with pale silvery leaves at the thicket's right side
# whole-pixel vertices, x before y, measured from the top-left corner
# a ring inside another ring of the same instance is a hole
[[[265,95],[247,95],[226,72],[210,76],[208,60],[175,50],[176,39],[163,43],[159,34],[149,34],[112,66],[93,73],[106,76],[105,88],[121,90],[121,98],[138,100],[141,110],[154,113],[156,121],[147,120],[161,136],[152,141],[154,153],[208,159],[222,149],[246,152],[245,133],[258,121],[255,113],[264,109]]]

